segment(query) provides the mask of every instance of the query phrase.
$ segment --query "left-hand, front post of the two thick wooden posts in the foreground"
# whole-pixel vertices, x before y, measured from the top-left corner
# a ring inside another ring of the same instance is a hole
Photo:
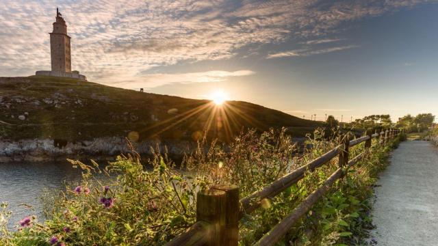
[[[196,220],[209,223],[208,246],[220,246],[224,231],[225,191],[209,189],[199,191],[196,201]]]

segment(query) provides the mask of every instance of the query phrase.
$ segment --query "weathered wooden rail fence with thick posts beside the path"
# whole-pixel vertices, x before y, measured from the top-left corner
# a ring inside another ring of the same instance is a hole
[[[166,246],[179,245],[230,245],[238,242],[239,221],[244,214],[249,214],[261,206],[264,199],[270,199],[285,191],[292,184],[304,178],[306,172],[313,172],[316,168],[328,163],[335,156],[339,156],[339,167],[322,185],[305,198],[292,213],[289,213],[274,228],[265,234],[255,245],[275,245],[289,231],[292,226],[305,215],[311,206],[318,202],[333,183],[346,174],[346,168],[360,161],[365,152],[350,159],[348,149],[365,142],[365,148],[371,147],[373,138],[378,138],[378,144],[385,145],[403,131],[389,129],[381,133],[365,133],[365,136],[350,140],[343,135],[341,143],[333,150],[326,152],[306,165],[275,180],[260,191],[239,200],[239,188],[235,185],[218,185],[209,190],[199,191],[196,201],[196,223],[183,234],[175,237]]]

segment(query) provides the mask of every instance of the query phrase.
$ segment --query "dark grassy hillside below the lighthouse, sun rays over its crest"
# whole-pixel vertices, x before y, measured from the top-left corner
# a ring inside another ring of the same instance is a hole
[[[286,126],[299,137],[319,124],[248,102],[217,107],[67,78],[0,77],[0,139],[197,139],[207,130],[227,141],[243,128]]]

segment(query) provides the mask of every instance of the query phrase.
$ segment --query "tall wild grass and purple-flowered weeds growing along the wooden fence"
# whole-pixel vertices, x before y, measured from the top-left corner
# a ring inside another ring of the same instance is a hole
[[[186,154],[181,168],[175,167],[166,151],[154,150],[153,158],[142,163],[135,148],[104,169],[94,161],[90,165],[70,161],[83,170],[83,178],[77,187],[66,187],[53,197],[52,206],[47,206],[47,221],[23,218],[18,230],[10,231],[6,227],[10,214],[7,206],[2,206],[0,245],[163,245],[194,223],[200,189],[218,183],[237,184],[242,197],[249,195],[331,150],[339,139],[327,139],[324,131],[317,130],[307,143],[313,148],[297,154],[298,146],[284,130],[261,135],[248,131],[229,145],[203,139],[194,152]],[[283,243],[360,243],[364,226],[370,227],[372,184],[395,145],[368,151],[290,230]],[[362,151],[362,145],[355,146],[350,156]],[[255,243],[335,169],[337,160],[333,159],[272,200],[264,200],[263,208],[242,219],[240,243]],[[113,178],[96,178],[96,174]]]

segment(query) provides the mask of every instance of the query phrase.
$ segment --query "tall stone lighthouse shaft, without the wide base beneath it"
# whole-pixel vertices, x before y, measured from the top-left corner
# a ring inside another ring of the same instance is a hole
[[[50,55],[53,72],[71,72],[70,36],[61,13],[56,8],[56,22],[50,33]]]

